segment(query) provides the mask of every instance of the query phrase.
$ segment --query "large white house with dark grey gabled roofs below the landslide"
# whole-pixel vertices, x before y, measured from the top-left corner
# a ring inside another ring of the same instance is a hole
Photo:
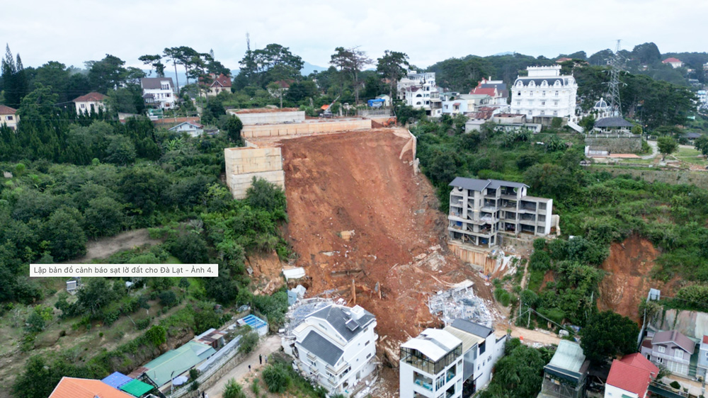
[[[319,309],[292,331],[295,364],[328,392],[353,394],[358,383],[376,368],[379,336],[375,327],[374,315],[358,305],[331,304]]]

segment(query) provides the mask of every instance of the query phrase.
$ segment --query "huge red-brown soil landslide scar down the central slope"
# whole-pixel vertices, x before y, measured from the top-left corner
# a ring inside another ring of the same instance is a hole
[[[353,305],[354,280],[356,304],[377,316],[382,339],[397,341],[436,322],[428,294],[475,278],[447,253],[445,217],[436,210],[430,183],[413,174],[411,152],[399,159],[409,140],[400,132],[375,129],[281,143],[287,233],[299,255],[296,265],[310,278],[307,296],[326,292]],[[425,259],[416,263],[416,256]]]

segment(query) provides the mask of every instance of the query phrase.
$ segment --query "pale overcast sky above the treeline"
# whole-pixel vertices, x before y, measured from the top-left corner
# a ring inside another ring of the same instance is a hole
[[[105,54],[137,57],[164,47],[213,49],[236,69],[246,50],[277,42],[328,66],[335,47],[360,46],[372,58],[406,52],[427,67],[450,57],[520,52],[588,55],[643,42],[661,52],[708,51],[706,0],[537,1],[220,1],[25,0],[3,6],[0,40],[25,66],[49,60],[83,66]]]

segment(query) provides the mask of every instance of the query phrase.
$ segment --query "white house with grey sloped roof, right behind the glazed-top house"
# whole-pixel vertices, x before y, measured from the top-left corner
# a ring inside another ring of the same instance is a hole
[[[466,319],[455,319],[445,331],[462,341],[464,395],[489,385],[494,364],[504,355],[507,335],[497,336],[494,329]]]

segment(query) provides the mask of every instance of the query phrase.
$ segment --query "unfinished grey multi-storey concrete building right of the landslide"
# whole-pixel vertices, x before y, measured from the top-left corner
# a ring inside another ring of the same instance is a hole
[[[527,196],[523,183],[456,177],[450,183],[450,239],[477,246],[501,244],[499,233],[551,232],[553,200]]]

